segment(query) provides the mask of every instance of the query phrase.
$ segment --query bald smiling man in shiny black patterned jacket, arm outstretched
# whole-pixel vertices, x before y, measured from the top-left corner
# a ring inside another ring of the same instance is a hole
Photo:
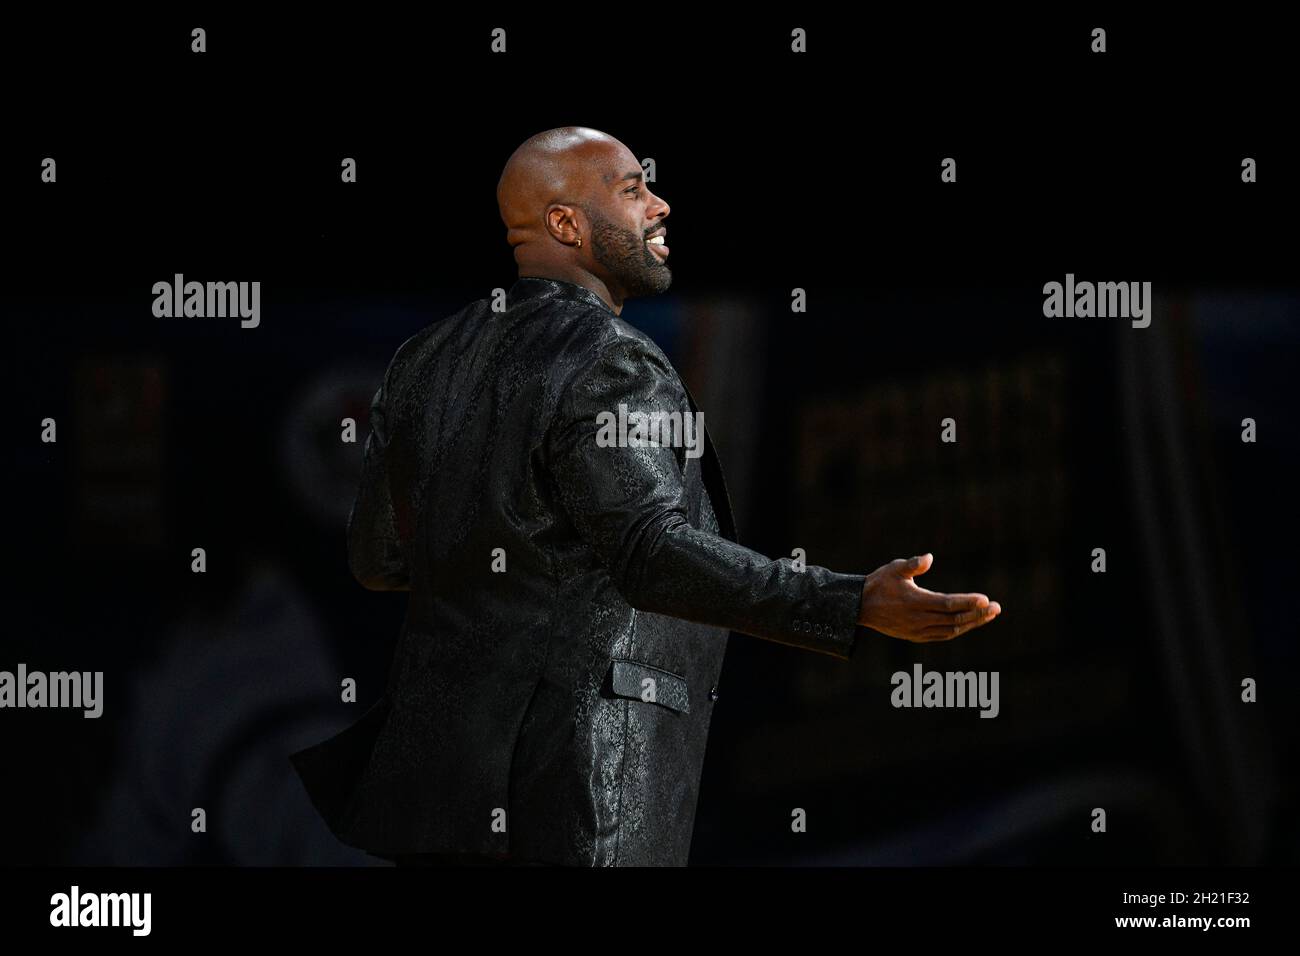
[[[859,627],[949,640],[1000,607],[916,587],[930,555],[863,576],[737,544],[693,398],[619,317],[671,282],[627,147],[549,130],[497,195],[519,280],[407,339],[370,408],[348,559],[410,591],[387,687],[292,761],[378,856],[685,865],[729,631],[849,659]]]

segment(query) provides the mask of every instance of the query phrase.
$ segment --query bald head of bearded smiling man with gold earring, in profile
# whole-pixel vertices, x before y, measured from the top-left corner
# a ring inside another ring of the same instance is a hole
[[[497,207],[519,274],[586,286],[620,312],[623,300],[668,289],[670,207],[641,163],[601,130],[560,126],[525,139],[497,183]]]

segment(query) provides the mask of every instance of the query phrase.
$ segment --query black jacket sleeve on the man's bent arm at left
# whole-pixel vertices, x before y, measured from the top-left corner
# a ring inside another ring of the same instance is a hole
[[[347,566],[370,591],[410,591],[411,572],[402,554],[389,489],[389,377],[370,401],[370,434],[361,459],[361,483],[347,518]]]

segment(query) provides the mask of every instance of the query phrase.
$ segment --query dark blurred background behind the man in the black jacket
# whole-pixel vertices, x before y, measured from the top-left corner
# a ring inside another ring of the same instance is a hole
[[[3,862],[374,862],[285,760],[381,692],[404,610],[346,566],[367,406],[404,338],[512,284],[497,178],[569,124],[656,161],[675,281],[623,317],[705,410],[742,542],[930,550],[924,587],[1004,605],[852,665],[733,635],[693,862],[1300,856],[1278,25],[195,13],[14,23],[5,53],[0,669],[103,670],[105,713],[0,711]],[[261,325],[155,319],[176,272],[261,281]],[[1152,281],[1150,328],[1044,319],[1067,272]],[[914,662],[1000,671],[1001,714],[893,709]]]

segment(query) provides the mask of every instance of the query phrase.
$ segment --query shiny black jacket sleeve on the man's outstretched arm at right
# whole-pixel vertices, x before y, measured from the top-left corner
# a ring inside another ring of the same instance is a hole
[[[789,558],[772,561],[692,527],[684,449],[606,446],[598,415],[618,416],[620,403],[629,416],[689,410],[663,354],[620,337],[569,380],[547,458],[564,510],[628,604],[849,659],[864,576],[812,564],[800,571]]]

